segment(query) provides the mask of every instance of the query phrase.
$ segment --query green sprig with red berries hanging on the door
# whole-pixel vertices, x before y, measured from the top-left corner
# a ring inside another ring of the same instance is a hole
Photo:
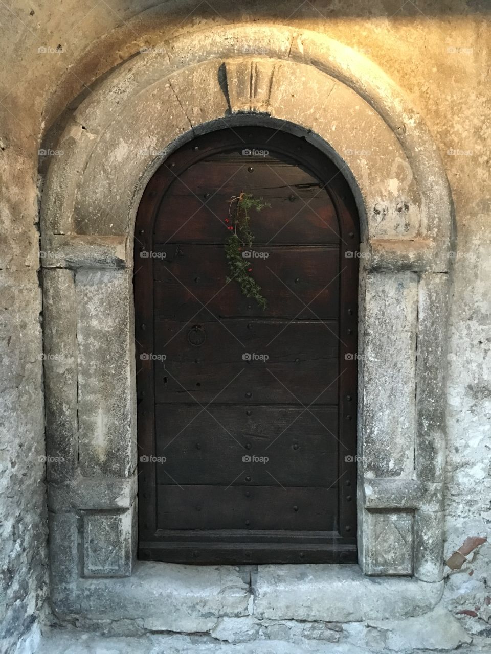
[[[261,286],[251,277],[252,267],[247,258],[242,256],[244,250],[251,250],[254,240],[250,228],[249,211],[261,211],[270,205],[264,204],[263,198],[254,198],[251,194],[242,192],[239,196],[230,199],[230,218],[225,218],[225,224],[233,232],[225,243],[230,276],[227,283],[236,281],[240,284],[246,298],[253,298],[261,309],[266,309],[266,298],[261,294]]]

